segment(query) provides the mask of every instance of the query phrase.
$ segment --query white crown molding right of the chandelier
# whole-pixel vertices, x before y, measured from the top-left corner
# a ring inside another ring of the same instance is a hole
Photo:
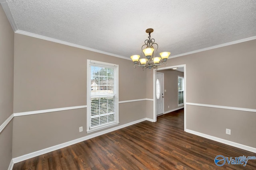
[[[220,48],[220,47],[225,47],[225,46],[228,46],[228,45],[238,44],[238,43],[242,43],[242,42],[250,41],[250,40],[254,40],[254,39],[256,39],[256,36],[248,37],[248,38],[245,38],[245,39],[239,39],[237,41],[232,41],[232,42],[229,42],[229,43],[215,45],[215,46],[207,47],[207,48],[204,48],[204,49],[190,51],[188,53],[182,53],[182,54],[174,55],[174,56],[169,57],[169,59],[172,59],[172,58],[175,58],[175,57],[181,57],[181,56],[184,56],[184,55],[190,55],[190,54],[194,54],[194,53],[199,53],[199,52],[202,52],[202,51],[207,51],[207,50],[216,49],[216,48]]]

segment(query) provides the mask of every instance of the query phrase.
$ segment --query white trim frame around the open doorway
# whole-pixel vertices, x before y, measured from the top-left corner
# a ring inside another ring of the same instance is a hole
[[[186,131],[186,64],[168,66],[163,68],[155,68],[153,70],[153,122],[156,122],[156,71],[158,70],[167,70],[176,67],[184,67],[184,131]],[[177,85],[178,86],[178,85]]]

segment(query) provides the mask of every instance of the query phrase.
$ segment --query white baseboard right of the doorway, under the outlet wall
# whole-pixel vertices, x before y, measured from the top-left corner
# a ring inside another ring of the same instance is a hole
[[[200,133],[200,132],[196,132],[196,131],[192,131],[192,130],[189,130],[189,129],[186,129],[186,132],[197,135],[197,136],[200,136],[200,137],[204,137],[206,139],[210,139],[210,140],[213,140],[213,141],[224,143],[224,144],[230,145],[232,147],[236,147],[236,148],[240,148],[240,149],[244,149],[244,150],[248,150],[250,152],[256,153],[256,148],[249,147],[249,146],[246,146],[246,145],[242,145],[240,143],[235,143],[235,142],[228,141],[228,140],[225,140],[225,139],[221,139],[221,138],[218,138],[218,137],[213,137],[213,136],[206,135],[204,133]]]

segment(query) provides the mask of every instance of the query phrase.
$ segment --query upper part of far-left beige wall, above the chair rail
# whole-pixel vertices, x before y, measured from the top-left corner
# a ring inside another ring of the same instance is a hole
[[[0,6],[0,124],[13,109],[14,32]]]

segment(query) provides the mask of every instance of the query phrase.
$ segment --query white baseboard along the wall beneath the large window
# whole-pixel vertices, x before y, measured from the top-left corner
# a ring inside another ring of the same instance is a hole
[[[69,141],[69,142],[66,142],[66,143],[62,143],[62,144],[59,144],[59,145],[55,145],[53,147],[49,147],[49,148],[46,148],[46,149],[42,149],[42,150],[38,150],[36,152],[32,152],[32,153],[29,153],[29,154],[25,154],[25,155],[22,155],[22,156],[18,156],[16,158],[12,158],[12,162],[13,163],[18,163],[18,162],[21,162],[23,160],[27,160],[27,159],[30,159],[30,158],[33,158],[35,156],[39,156],[39,155],[42,155],[42,154],[46,154],[48,152],[52,152],[54,150],[58,150],[58,149],[61,149],[61,148],[64,148],[64,147],[68,147],[70,145],[74,145],[76,143],[79,143],[79,142],[82,142],[82,141],[86,141],[88,139],[91,139],[91,138],[94,138],[94,137],[98,137],[100,135],[104,135],[106,133],[109,133],[109,132],[112,132],[112,131],[116,131],[118,129],[122,129],[124,127],[127,127],[127,126],[130,126],[130,125],[134,125],[136,123],[140,123],[142,121],[145,121],[147,118],[144,118],[144,119],[140,119],[140,120],[136,120],[136,121],[133,121],[133,122],[130,122],[130,123],[126,123],[124,125],[120,125],[120,126],[117,126],[117,127],[113,127],[111,129],[107,129],[105,131],[100,131],[98,133],[94,133],[92,135],[87,135],[85,137],[81,137],[79,139],[75,139],[75,140],[72,140],[72,141]]]

